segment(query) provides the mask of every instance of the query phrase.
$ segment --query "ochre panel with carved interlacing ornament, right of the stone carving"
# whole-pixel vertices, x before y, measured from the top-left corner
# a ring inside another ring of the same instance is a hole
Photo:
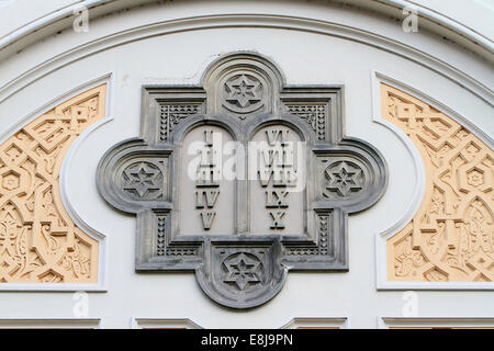
[[[388,239],[391,281],[494,281],[494,152],[454,120],[381,86],[382,116],[419,150],[426,191],[415,217]]]

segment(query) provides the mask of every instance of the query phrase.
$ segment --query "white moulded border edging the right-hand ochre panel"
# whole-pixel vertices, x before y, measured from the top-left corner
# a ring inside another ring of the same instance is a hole
[[[401,131],[396,125],[385,121],[381,115],[381,88],[380,84],[385,83],[390,87],[394,87],[404,91],[405,93],[415,97],[431,105],[434,109],[442,112],[447,116],[453,118],[461,125],[464,125],[471,133],[481,138],[487,146],[494,148],[494,141],[483,131],[479,129],[474,124],[467,120],[461,114],[457,113],[452,109],[435,100],[434,98],[422,93],[418,89],[415,89],[406,83],[403,83],[390,75],[381,73],[378,71],[371,72],[372,83],[372,121],[379,123],[390,131],[403,141],[407,150],[412,155],[415,165],[416,183],[414,184],[414,193],[408,207],[405,210],[401,218],[395,222],[391,227],[375,236],[375,278],[378,290],[494,290],[494,282],[400,282],[388,280],[388,264],[386,264],[386,240],[403,229],[415,216],[418,208],[422,205],[422,201],[425,194],[426,186],[426,173],[422,156],[412,140]]]

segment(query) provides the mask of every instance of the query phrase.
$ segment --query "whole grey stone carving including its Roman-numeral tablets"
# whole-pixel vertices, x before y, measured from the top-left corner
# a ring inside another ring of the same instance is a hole
[[[101,195],[137,216],[136,271],[194,271],[233,308],[268,302],[291,270],[347,271],[347,216],[382,196],[388,171],[343,125],[343,87],[287,86],[251,53],[221,57],[200,87],[143,87],[141,137],[112,147],[97,174]],[[247,150],[249,166],[251,141],[266,141],[256,179],[214,179],[213,129]],[[205,147],[193,181],[183,163],[192,141]]]

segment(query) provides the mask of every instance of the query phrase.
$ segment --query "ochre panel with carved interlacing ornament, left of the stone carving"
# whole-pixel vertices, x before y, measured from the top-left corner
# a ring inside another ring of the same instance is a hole
[[[106,86],[37,117],[0,145],[0,282],[92,283],[98,241],[64,208],[59,174],[76,138],[103,118]]]

